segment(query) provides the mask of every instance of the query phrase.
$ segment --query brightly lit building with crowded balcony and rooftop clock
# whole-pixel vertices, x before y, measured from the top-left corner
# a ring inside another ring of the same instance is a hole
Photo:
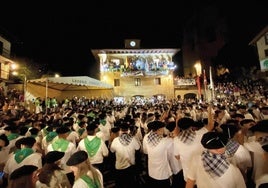
[[[125,49],[92,49],[100,66],[99,79],[114,86],[115,97],[173,98],[173,56],[180,49],[139,47],[140,40],[126,39]]]

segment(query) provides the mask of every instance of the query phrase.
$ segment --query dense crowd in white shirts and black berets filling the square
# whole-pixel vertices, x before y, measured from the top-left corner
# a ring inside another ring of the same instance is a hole
[[[2,95],[0,185],[265,187],[267,96],[264,89],[254,93],[230,83],[216,89],[230,87],[239,95],[228,92],[209,102],[116,104],[74,96],[34,112],[14,95]]]

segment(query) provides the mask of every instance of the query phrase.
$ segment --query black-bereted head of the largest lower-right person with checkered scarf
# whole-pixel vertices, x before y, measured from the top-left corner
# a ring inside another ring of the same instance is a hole
[[[201,144],[214,154],[223,154],[228,137],[222,132],[210,131],[205,133],[201,138]]]

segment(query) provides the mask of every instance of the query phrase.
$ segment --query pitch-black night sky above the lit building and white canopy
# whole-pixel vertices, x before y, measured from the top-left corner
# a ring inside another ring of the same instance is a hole
[[[1,5],[0,21],[13,54],[62,76],[96,77],[91,49],[124,48],[124,39],[141,39],[141,48],[180,48],[183,23],[212,2],[228,20],[232,48],[247,45],[268,23],[265,1],[63,2],[11,0]]]

